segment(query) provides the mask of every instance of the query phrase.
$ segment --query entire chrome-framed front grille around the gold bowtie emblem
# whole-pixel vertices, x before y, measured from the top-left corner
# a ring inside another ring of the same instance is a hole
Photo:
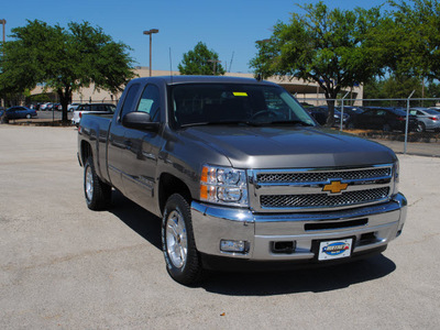
[[[252,169],[251,206],[261,212],[314,211],[387,201],[393,165],[366,168]],[[328,189],[336,185],[341,189]]]

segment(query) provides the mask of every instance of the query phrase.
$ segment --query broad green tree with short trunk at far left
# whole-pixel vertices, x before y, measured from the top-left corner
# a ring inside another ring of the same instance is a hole
[[[28,21],[26,26],[12,29],[11,36],[2,50],[0,88],[22,92],[43,84],[58,95],[63,121],[73,91],[95,84],[117,92],[134,77],[129,47],[88,22],[70,22],[64,29]]]

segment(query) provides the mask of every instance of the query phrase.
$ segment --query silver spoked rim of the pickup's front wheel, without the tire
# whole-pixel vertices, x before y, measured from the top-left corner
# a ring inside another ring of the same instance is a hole
[[[188,255],[188,241],[185,220],[179,209],[173,210],[166,220],[166,252],[175,267],[185,266]]]

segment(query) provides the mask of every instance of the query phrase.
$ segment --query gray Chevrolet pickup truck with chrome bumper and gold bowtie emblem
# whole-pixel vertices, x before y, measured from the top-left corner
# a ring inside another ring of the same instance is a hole
[[[186,285],[205,270],[370,256],[406,219],[393,151],[320,128],[275,84],[134,79],[78,133],[87,206],[107,208],[116,188],[162,217],[167,271]]]

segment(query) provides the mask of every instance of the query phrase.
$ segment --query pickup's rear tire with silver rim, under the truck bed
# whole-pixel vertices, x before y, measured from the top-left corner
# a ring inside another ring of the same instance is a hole
[[[87,207],[98,211],[108,209],[111,202],[111,186],[101,182],[95,170],[94,158],[89,156],[84,166],[84,195]]]

